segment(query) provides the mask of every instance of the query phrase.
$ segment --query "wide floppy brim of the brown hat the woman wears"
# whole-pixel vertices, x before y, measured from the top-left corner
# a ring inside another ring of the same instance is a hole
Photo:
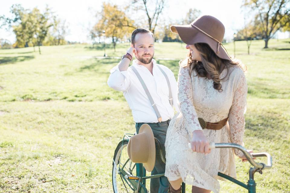
[[[170,30],[173,33],[177,33],[181,40],[188,45],[192,45],[195,43],[206,43],[211,47],[211,49],[219,58],[229,61],[232,60],[227,54],[227,51],[224,49],[224,47],[221,46],[221,44],[219,44],[216,40],[212,39],[206,34],[200,32],[195,27],[192,27],[192,25],[172,25],[170,26]],[[217,53],[217,50],[219,50],[219,53]]]

